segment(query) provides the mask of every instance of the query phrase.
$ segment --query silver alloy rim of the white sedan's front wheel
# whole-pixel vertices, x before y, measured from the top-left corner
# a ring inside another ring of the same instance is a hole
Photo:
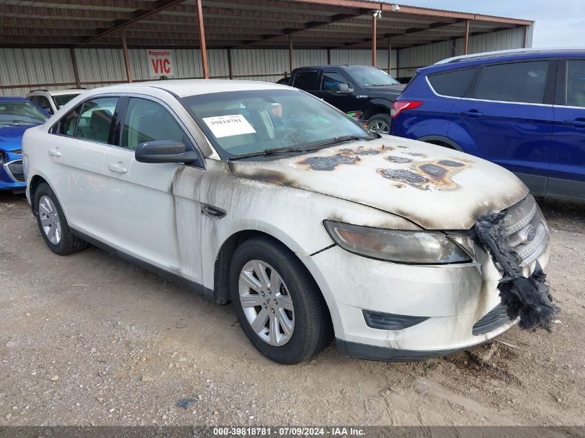
[[[251,260],[240,271],[240,304],[255,334],[280,347],[294,331],[294,306],[280,274],[261,260]]]

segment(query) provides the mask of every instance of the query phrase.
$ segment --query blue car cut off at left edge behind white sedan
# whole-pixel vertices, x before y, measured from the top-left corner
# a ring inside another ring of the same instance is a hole
[[[0,98],[0,190],[24,192],[22,135],[50,114],[25,98]]]

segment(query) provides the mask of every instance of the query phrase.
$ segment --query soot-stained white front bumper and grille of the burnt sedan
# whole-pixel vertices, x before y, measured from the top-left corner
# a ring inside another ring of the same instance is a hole
[[[523,214],[526,208],[528,215]],[[548,263],[548,228],[538,207],[527,203],[522,209],[519,221],[510,220],[510,232],[513,238],[532,230],[529,226],[537,230],[528,244],[516,242],[526,255],[523,273],[530,276]],[[518,321],[507,318],[497,289],[501,272],[479,244],[471,246],[474,262],[467,264],[395,264],[339,246],[306,259],[324,295],[334,297],[331,313],[339,351],[373,360],[416,361],[480,345],[513,327]],[[368,311],[378,327],[368,322]],[[402,329],[380,325],[385,320],[399,324],[401,317],[406,317]],[[413,324],[413,317],[420,318]]]

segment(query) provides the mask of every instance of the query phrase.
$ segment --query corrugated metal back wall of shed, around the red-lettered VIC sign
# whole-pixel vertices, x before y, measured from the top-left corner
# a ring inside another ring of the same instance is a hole
[[[175,78],[203,76],[199,49],[172,50]],[[332,64],[369,65],[372,61],[371,53],[368,50],[332,50],[330,56]],[[231,54],[233,77],[237,79],[276,82],[285,73],[290,73],[287,49],[235,49]],[[75,59],[80,82],[87,89],[127,81],[121,48],[78,48],[75,49]],[[134,80],[153,79],[148,74],[146,49],[130,49],[129,59]],[[75,86],[69,49],[0,48],[0,60],[0,85],[23,85],[0,89],[0,95],[26,95],[32,88],[62,89]],[[227,50],[210,49],[208,61],[211,77],[229,77]],[[319,64],[327,64],[327,50],[294,50],[294,68]],[[378,51],[377,65],[381,69],[388,68],[388,51]],[[395,51],[392,65],[395,69]]]

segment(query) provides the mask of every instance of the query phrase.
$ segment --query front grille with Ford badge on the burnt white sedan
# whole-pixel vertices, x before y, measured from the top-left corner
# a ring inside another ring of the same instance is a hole
[[[510,246],[526,266],[541,255],[548,244],[548,226],[532,194],[506,210],[504,225]]]

